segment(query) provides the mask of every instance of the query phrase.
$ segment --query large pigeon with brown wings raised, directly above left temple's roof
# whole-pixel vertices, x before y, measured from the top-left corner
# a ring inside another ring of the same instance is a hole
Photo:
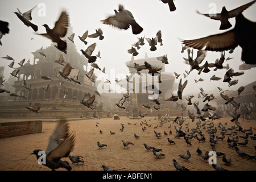
[[[46,28],[46,34],[39,34],[45,36],[48,39],[51,39],[52,42],[57,43],[57,49],[66,53],[67,51],[67,42],[61,40],[60,38],[64,38],[64,36],[68,32],[69,26],[69,15],[67,11],[62,11],[59,19],[55,22],[54,28],[49,28],[47,24],[43,24]]]

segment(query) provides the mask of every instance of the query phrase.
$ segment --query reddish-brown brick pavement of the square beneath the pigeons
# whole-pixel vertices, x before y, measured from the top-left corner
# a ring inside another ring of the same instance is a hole
[[[151,127],[146,125],[141,126],[141,122],[151,124]],[[151,120],[151,121],[149,121]],[[96,122],[100,122],[96,127]],[[131,125],[128,125],[128,122]],[[235,124],[230,122],[230,118],[221,118],[214,121],[214,127],[218,129],[218,123],[221,122],[226,128],[234,126]],[[253,128],[253,133],[256,132],[256,121],[240,121],[241,125],[245,129]],[[125,129],[120,131],[121,123],[124,124]],[[137,123],[134,125],[134,123]],[[189,123],[189,131],[196,127],[196,121],[191,122],[191,119],[186,119],[183,123],[183,129],[185,129],[185,123]],[[203,122],[202,122],[203,123]],[[209,122],[207,122],[209,123]],[[171,128],[168,128],[170,126]],[[46,171],[47,167],[39,165],[35,156],[30,153],[35,148],[41,148],[46,150],[49,136],[55,130],[57,122],[43,122],[42,133],[23,135],[19,137],[0,139],[0,170],[18,170],[18,171]],[[156,125],[159,125],[158,119],[154,117],[144,117],[142,119],[129,119],[121,117],[120,120],[114,120],[113,118],[101,118],[101,119],[85,119],[79,121],[69,121],[70,130],[76,134],[75,148],[71,154],[84,156],[85,163],[73,164],[72,170],[74,171],[102,171],[102,164],[112,167],[115,170],[120,171],[174,171],[172,159],[176,159],[178,163],[187,167],[192,171],[214,171],[209,163],[205,163],[201,156],[197,155],[196,149],[199,147],[203,153],[210,151],[212,148],[209,144],[209,134],[206,129],[201,131],[205,134],[206,141],[199,142],[195,138],[191,139],[192,146],[187,146],[183,138],[174,138],[175,128],[179,126],[177,123],[166,122],[162,127],[154,129]],[[142,127],[146,126],[146,130],[142,131]],[[207,125],[206,125],[207,126]],[[164,131],[169,133],[170,129],[172,134],[164,136]],[[100,130],[103,131],[100,134]],[[110,130],[115,134],[110,134]],[[154,134],[154,130],[162,133],[162,137],[157,138]],[[135,139],[134,133],[139,135],[138,139]],[[220,129],[217,134],[220,136]],[[238,136],[245,135],[245,133],[238,132]],[[176,144],[169,144],[167,138],[175,140]],[[230,166],[224,165],[222,158],[217,158],[217,164],[225,169],[235,171],[248,171],[256,170],[256,160],[248,160],[238,156],[234,148],[228,147],[228,135],[225,135],[225,139],[218,140],[216,144],[216,150],[224,152],[227,158],[232,159]],[[126,140],[134,143],[127,148],[123,148],[121,140]],[[240,142],[244,139],[239,138]],[[107,144],[107,147],[98,149],[97,141]],[[162,153],[166,155],[164,158],[155,158],[152,151],[146,151],[143,143],[149,144],[155,148],[162,148]],[[250,155],[256,155],[254,146],[256,140],[249,138],[247,146],[238,146],[242,151]],[[187,162],[185,159],[179,157],[180,154],[186,154],[187,150],[191,152],[191,159]],[[65,158],[68,162],[70,160]],[[57,169],[59,171],[65,169]]]

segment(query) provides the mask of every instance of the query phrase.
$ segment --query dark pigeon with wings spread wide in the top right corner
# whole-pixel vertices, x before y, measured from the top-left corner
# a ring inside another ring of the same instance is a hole
[[[199,13],[199,11],[197,11],[197,13],[207,16],[210,19],[220,20],[221,21],[220,30],[226,30],[232,27],[232,24],[229,22],[229,18],[234,18],[236,15],[241,14],[244,10],[246,10],[248,7],[253,5],[253,3],[255,3],[255,1],[251,1],[249,3],[246,3],[245,5],[237,7],[236,9],[233,9],[230,11],[226,10],[226,7],[223,6],[221,13],[217,13],[217,14],[201,14]]]

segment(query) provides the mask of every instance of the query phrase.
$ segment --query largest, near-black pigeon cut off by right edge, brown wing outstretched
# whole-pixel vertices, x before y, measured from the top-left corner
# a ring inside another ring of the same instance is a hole
[[[243,14],[236,15],[236,24],[232,30],[221,34],[210,35],[200,39],[182,40],[182,42],[195,49],[203,49],[207,51],[227,51],[240,46],[242,48],[241,60],[246,64],[256,64],[254,59],[254,51],[256,44],[256,23],[246,19]]]

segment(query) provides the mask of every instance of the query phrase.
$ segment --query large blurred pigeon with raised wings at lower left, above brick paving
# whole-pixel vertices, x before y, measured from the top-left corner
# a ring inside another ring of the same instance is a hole
[[[75,145],[75,134],[68,131],[68,123],[65,119],[61,119],[58,123],[55,131],[49,138],[49,143],[45,151],[46,154],[46,163],[41,161],[44,166],[52,169],[65,168],[68,171],[72,169],[69,166],[69,163],[61,158],[67,157],[69,153],[73,150]],[[43,152],[40,149],[34,150],[31,154],[36,155],[36,158],[39,159],[43,157],[40,153]],[[39,162],[39,160],[38,160]]]

